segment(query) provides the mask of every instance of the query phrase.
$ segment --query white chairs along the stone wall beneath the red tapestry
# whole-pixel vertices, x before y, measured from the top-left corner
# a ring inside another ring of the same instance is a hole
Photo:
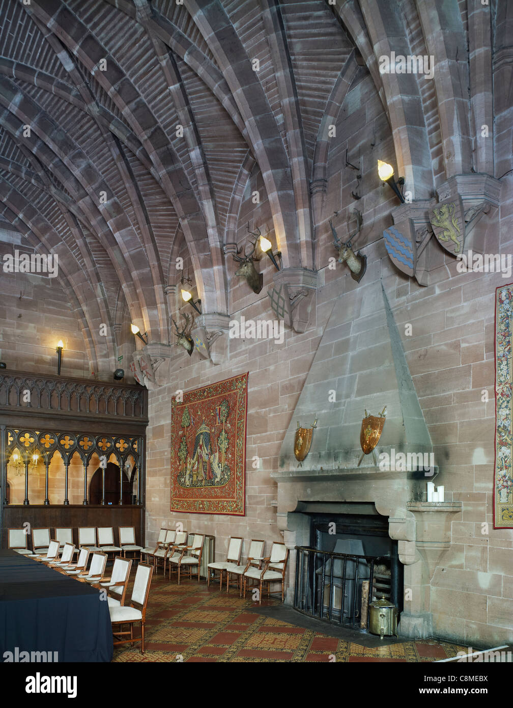
[[[143,549],[142,555],[146,556],[148,563],[153,563],[156,572],[158,572],[158,564],[161,563],[163,573],[166,575],[166,566],[168,566],[170,580],[173,566],[175,566],[176,572],[178,572],[178,584],[180,584],[180,572],[183,567],[189,569],[190,578],[192,578],[192,569],[197,568],[199,582],[203,545],[203,534],[189,535],[187,531],[161,528],[156,547]],[[241,563],[242,548],[243,538],[230,538],[226,560],[208,564],[207,586],[210,585],[211,574],[215,577],[215,573],[219,571],[219,589],[221,590],[224,573],[226,573],[226,593],[229,590],[230,579],[233,581],[233,578],[236,578],[237,588],[240,586],[239,595],[244,594],[244,598],[246,598],[247,587],[258,585],[258,600],[261,603],[263,586],[267,585],[267,594],[270,595],[270,583],[280,582],[283,601],[289,549],[283,542],[275,541],[272,543],[270,555],[265,556],[265,541],[252,539],[248,558],[245,563]]]

